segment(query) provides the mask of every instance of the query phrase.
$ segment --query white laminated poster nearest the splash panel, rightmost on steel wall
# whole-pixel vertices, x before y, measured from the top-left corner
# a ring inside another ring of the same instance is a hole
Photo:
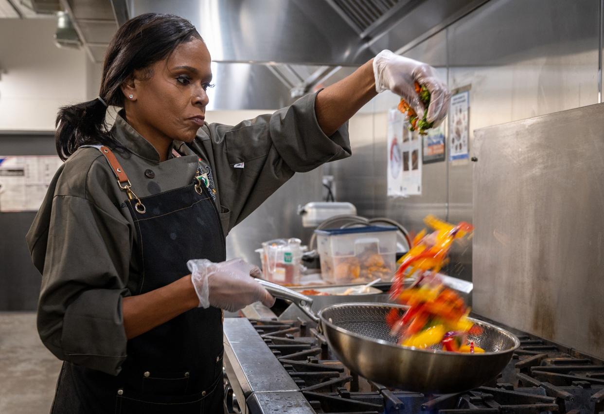
[[[468,155],[470,92],[451,97],[449,111],[449,159],[464,160]]]

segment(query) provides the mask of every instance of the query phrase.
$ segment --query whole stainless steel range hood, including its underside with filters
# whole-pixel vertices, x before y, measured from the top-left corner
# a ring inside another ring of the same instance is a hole
[[[404,51],[487,0],[60,0],[95,62],[128,18],[189,19],[220,83],[211,109],[278,108],[384,48]],[[236,66],[228,66],[236,63]],[[245,85],[244,89],[234,85]],[[237,89],[231,92],[231,89]],[[268,105],[268,106],[267,106]]]

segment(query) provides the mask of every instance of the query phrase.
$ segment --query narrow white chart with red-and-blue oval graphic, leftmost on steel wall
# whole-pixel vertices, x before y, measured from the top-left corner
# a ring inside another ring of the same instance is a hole
[[[404,196],[403,193],[403,114],[398,109],[391,109],[388,112],[387,129],[387,195]]]

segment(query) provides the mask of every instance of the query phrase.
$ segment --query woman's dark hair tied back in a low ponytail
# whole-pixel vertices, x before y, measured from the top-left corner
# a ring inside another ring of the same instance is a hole
[[[124,23],[105,54],[98,94],[101,99],[59,109],[55,123],[59,157],[66,160],[85,144],[103,144],[114,149],[121,147],[108,132],[106,105],[123,107],[124,96],[120,86],[135,70],[165,59],[179,44],[193,38],[201,39],[194,25],[175,15],[145,13]]]

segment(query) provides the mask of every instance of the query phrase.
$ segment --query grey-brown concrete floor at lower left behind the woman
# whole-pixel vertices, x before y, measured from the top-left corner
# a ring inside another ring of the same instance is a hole
[[[0,413],[50,412],[60,369],[40,341],[34,312],[0,312]]]

